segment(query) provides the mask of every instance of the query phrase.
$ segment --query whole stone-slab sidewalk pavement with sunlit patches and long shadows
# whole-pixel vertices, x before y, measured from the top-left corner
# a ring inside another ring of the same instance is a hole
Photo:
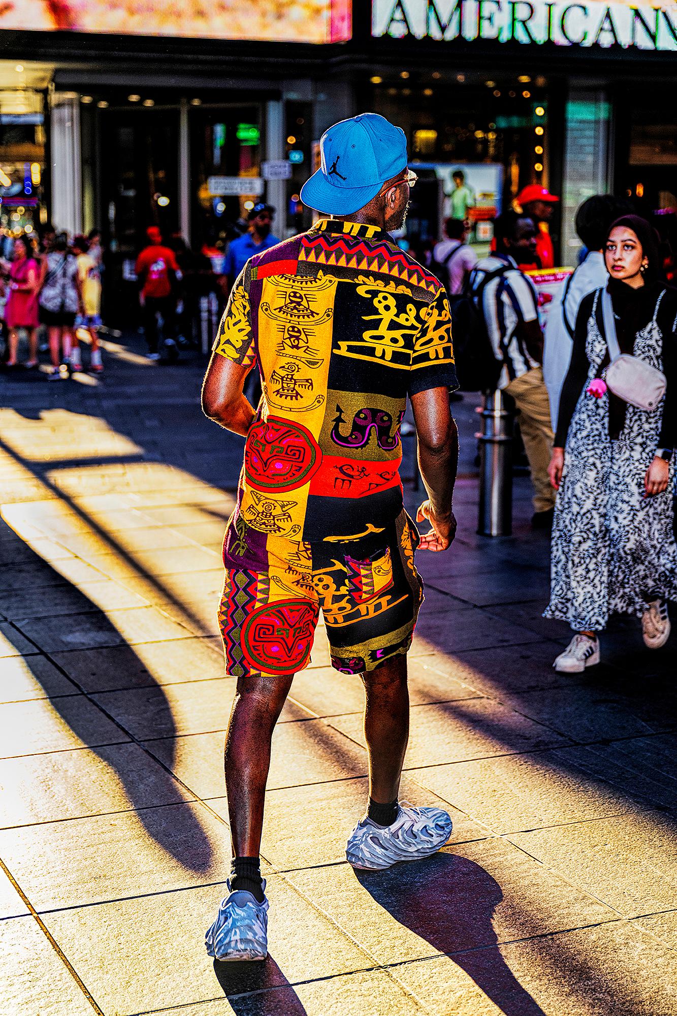
[[[675,639],[650,653],[619,621],[601,666],[555,674],[548,539],[525,480],[514,535],[475,535],[468,402],[458,536],[417,557],[402,792],[447,808],[452,839],[384,873],[346,864],[363,696],[318,632],[274,736],[270,954],[212,964],[234,690],[216,606],[242,442],[201,418],[196,356],[109,344],[106,365],[0,379],[2,1016],[677,1013]]]

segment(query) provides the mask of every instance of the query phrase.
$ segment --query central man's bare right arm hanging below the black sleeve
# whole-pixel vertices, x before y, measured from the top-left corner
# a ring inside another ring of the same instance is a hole
[[[453,539],[456,520],[451,510],[458,468],[458,431],[449,409],[447,388],[430,388],[412,395],[419,440],[419,468],[428,500],[417,521],[427,519],[432,529],[421,537],[421,548],[444,551]]]

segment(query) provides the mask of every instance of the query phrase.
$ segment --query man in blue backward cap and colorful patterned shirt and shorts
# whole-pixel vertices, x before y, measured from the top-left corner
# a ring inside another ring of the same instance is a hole
[[[369,803],[348,861],[388,868],[434,853],[451,833],[446,812],[397,802],[407,651],[423,598],[414,552],[445,550],[455,530],[449,308],[387,232],[403,225],[416,181],[404,132],[368,113],[329,128],[320,148],[302,198],[326,217],[247,262],[202,392],[205,414],[247,439],[220,608],[226,670],[238,679],[226,741],[230,894],[206,935],[220,960],[266,955],[259,848],[270,737],[320,610],[332,665],[361,674],[366,692]],[[242,394],[254,363],[258,414]],[[428,492],[423,536],[398,475],[407,396]]]

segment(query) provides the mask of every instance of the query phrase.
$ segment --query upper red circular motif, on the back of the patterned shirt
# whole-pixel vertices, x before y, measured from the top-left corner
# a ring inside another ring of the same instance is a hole
[[[245,477],[259,491],[293,491],[319,469],[322,452],[309,430],[289,420],[259,420],[247,434]]]

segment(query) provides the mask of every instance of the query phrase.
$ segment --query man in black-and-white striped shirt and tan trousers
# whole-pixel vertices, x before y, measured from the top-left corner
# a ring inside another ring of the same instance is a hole
[[[553,432],[548,390],[543,380],[543,332],[534,287],[517,265],[536,256],[536,227],[514,211],[499,215],[495,226],[496,253],[484,258],[471,275],[487,333],[497,360],[502,361],[497,387],[510,395],[519,410],[519,430],[535,488],[535,528],[552,525],[555,491],[548,477]]]

